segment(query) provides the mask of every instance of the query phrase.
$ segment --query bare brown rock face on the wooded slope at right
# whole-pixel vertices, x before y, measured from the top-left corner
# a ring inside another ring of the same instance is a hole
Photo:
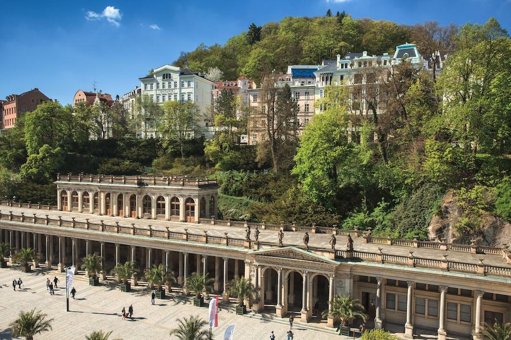
[[[481,246],[500,247],[511,244],[511,224],[486,211],[480,211],[481,227],[476,230],[458,229],[463,217],[456,197],[449,191],[442,201],[440,212],[433,215],[428,227],[431,239],[445,238],[447,242],[470,244],[471,239]]]

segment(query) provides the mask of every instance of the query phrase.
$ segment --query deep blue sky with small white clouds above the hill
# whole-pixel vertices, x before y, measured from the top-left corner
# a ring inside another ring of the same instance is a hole
[[[324,15],[328,8],[405,24],[483,23],[494,16],[511,29],[511,0],[38,0],[4,1],[0,8],[0,98],[38,87],[63,104],[95,81],[98,89],[122,95],[149,69],[201,42],[224,43],[251,22]]]

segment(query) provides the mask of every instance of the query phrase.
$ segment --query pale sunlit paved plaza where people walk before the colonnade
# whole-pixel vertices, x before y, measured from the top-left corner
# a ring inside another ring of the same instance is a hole
[[[198,314],[207,320],[207,308],[194,307],[191,303],[169,298],[156,299],[151,305],[148,291],[123,293],[113,286],[89,286],[83,280],[75,280],[76,300],[70,298],[69,309],[65,311],[65,289],[56,289],[51,296],[46,289],[46,279],[58,275],[61,282],[65,278],[56,272],[21,273],[13,269],[0,269],[0,339],[11,339],[9,324],[17,318],[20,311],[32,308],[42,310],[49,318],[54,318],[53,330],[36,335],[42,339],[85,339],[85,335],[95,330],[112,330],[112,339],[170,339],[169,332],[177,326],[177,319]],[[13,279],[21,278],[22,289],[12,289]],[[65,283],[62,284],[65,286]],[[60,284],[59,284],[60,287]],[[121,310],[133,304],[132,320],[123,320]],[[223,336],[229,325],[235,325],[236,339],[268,339],[270,331],[276,339],[285,339],[289,329],[287,324],[262,321],[236,315],[234,311],[221,309],[218,315],[219,327],[213,329],[216,339]],[[300,329],[295,323],[294,339],[332,339],[334,336],[314,330]],[[343,339],[344,336],[335,336]]]

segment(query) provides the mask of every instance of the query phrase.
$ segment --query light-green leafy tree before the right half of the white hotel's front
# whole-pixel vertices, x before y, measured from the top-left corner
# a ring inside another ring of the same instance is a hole
[[[179,145],[181,158],[184,158],[184,147],[188,140],[195,138],[200,131],[200,110],[195,103],[177,101],[165,102],[162,105],[163,116],[158,124],[161,134],[164,136],[162,144],[168,150],[173,145]]]

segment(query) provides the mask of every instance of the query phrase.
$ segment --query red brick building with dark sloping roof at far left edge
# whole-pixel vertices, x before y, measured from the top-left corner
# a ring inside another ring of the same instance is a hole
[[[21,94],[11,94],[2,103],[2,117],[0,128],[11,129],[16,124],[16,119],[21,113],[34,111],[39,104],[51,101],[36,87]]]

